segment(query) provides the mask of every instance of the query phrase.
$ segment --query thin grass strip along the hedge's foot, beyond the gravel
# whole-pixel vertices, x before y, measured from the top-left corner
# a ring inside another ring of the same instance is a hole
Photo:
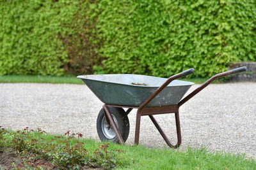
[[[179,80],[191,81],[194,83],[204,83],[207,78],[180,78]],[[216,80],[214,83],[223,82]],[[20,76],[20,75],[7,75],[0,76],[0,83],[71,83],[83,84],[76,76]]]

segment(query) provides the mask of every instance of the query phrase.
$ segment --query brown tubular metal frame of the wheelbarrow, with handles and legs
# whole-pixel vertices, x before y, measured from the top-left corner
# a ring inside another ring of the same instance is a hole
[[[112,115],[109,111],[109,108],[108,108],[109,106],[118,107],[118,108],[128,108],[127,111],[126,111],[127,115],[132,111],[132,109],[134,109],[134,108],[138,109],[137,114],[136,114],[136,127],[135,127],[135,138],[134,138],[134,143],[136,145],[139,144],[141,116],[147,116],[148,115],[150,120],[152,120],[153,124],[156,126],[157,130],[159,131],[159,133],[163,137],[166,144],[168,146],[170,146],[171,148],[177,148],[177,147],[180,146],[181,141],[182,141],[181,132],[180,132],[180,120],[179,120],[179,108],[180,108],[180,106],[182,106],[189,99],[191,99],[191,97],[195,96],[196,94],[198,94],[198,92],[200,92],[205,87],[207,87],[207,85],[209,85],[212,81],[214,81],[218,78],[221,78],[223,76],[228,76],[230,74],[235,74],[235,73],[240,73],[240,72],[246,71],[246,67],[239,67],[237,69],[233,69],[233,70],[226,71],[224,73],[219,73],[219,74],[216,74],[215,76],[212,76],[209,80],[205,81],[205,83],[203,83],[200,87],[195,89],[188,96],[184,97],[184,99],[182,99],[178,104],[170,105],[170,106],[147,107],[147,104],[150,103],[150,101],[152,101],[152,99],[154,99],[154,97],[156,97],[157,94],[159,94],[159,92],[161,92],[170,82],[172,82],[173,80],[175,80],[177,78],[181,78],[182,76],[186,76],[188,74],[194,73],[194,71],[195,71],[194,69],[188,69],[187,71],[184,71],[182,73],[175,74],[175,75],[171,76],[150,97],[148,97],[148,99],[145,102],[143,102],[139,107],[104,104],[103,105],[103,110],[104,110],[104,114],[105,114],[105,117],[106,117],[106,121],[109,125],[108,127],[110,128],[110,125],[112,125],[112,127],[113,127],[113,129],[116,133],[116,137],[118,138],[118,142],[120,144],[124,145],[124,140],[123,140],[122,136],[120,135],[120,132],[118,131],[118,128],[116,127],[115,121],[113,120],[113,117],[112,117]],[[172,143],[170,143],[169,139],[164,134],[160,125],[157,124],[156,119],[153,117],[153,115],[168,114],[168,113],[175,113],[175,123],[176,123],[176,130],[177,130],[177,144],[176,145],[172,145]]]

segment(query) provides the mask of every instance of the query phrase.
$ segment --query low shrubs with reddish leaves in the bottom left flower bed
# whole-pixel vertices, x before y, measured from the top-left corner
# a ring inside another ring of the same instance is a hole
[[[1,127],[0,144],[3,146],[6,146],[5,133],[12,137],[8,146],[19,153],[18,161],[13,164],[16,169],[81,169],[83,166],[111,169],[117,166],[118,152],[109,150],[109,144],[104,144],[91,155],[80,141],[81,133],[67,131],[65,136],[55,136],[47,141],[43,135],[46,132],[42,129],[34,132],[26,127],[22,131],[8,132]]]

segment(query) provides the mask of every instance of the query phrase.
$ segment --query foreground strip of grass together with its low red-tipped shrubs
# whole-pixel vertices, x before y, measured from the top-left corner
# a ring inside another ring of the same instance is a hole
[[[7,132],[2,128],[0,148],[2,145],[2,150],[4,150],[3,146],[18,150],[23,154],[23,158],[30,157],[30,163],[33,160],[31,157],[36,157],[35,162],[44,158],[51,160],[53,166],[57,165],[60,168],[83,167],[84,162],[87,161],[97,165],[96,167],[106,169],[109,168],[110,163],[116,169],[256,169],[256,162],[253,159],[244,159],[243,155],[231,153],[210,153],[205,148],[188,148],[186,152],[181,152],[179,149],[145,148],[141,145],[122,146],[114,143],[106,145],[92,139],[68,136],[40,134],[29,132],[29,129]],[[106,150],[105,146],[107,146]],[[83,148],[86,149],[85,152]],[[74,155],[79,159],[74,159]],[[72,164],[73,160],[75,164]],[[29,167],[28,162],[26,166]]]

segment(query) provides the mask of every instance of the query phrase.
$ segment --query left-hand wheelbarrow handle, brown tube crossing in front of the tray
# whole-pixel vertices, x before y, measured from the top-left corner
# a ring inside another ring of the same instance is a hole
[[[168,80],[166,80],[163,85],[161,85],[151,96],[149,96],[147,98],[147,100],[145,100],[140,107],[138,108],[138,112],[140,112],[148,103],[150,103],[150,101],[152,101],[152,99],[154,99],[154,97],[157,96],[157,94],[159,94],[166,86],[168,86],[173,80],[176,80],[177,78],[182,78],[183,76],[188,76],[188,74],[192,74],[195,72],[195,69],[191,68],[191,69],[187,69],[186,71],[183,71],[182,73],[179,74],[175,74],[173,76],[170,76],[170,78],[168,78]]]

